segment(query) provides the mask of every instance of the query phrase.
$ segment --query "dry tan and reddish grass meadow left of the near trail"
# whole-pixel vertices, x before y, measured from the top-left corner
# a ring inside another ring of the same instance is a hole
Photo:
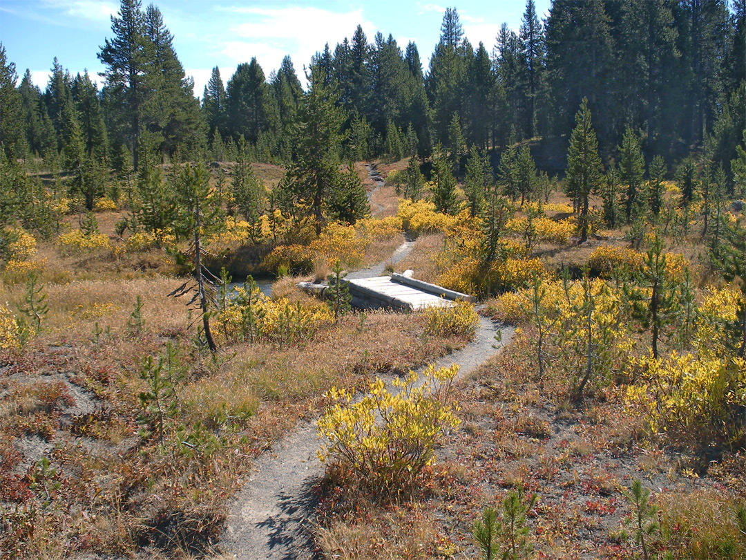
[[[304,305],[295,281],[276,282],[275,294]],[[209,553],[251,458],[299,417],[315,416],[325,391],[363,388],[373,373],[404,372],[452,343],[424,337],[420,315],[375,312],[343,317],[305,343],[239,343],[210,358],[192,342],[196,315],[166,297],[178,284],[167,277],[46,282],[42,332],[0,369],[0,470],[17,473],[0,474],[2,500],[28,504],[17,523],[34,527],[33,538],[0,534],[3,547],[21,547],[19,558]],[[0,286],[0,301],[12,307],[23,289]],[[128,319],[138,295],[145,324],[133,335]],[[178,351],[184,379],[175,382],[162,445],[157,414],[144,411],[138,395],[148,388],[142,358],[157,361],[166,342]],[[44,456],[57,473],[49,496],[27,473]],[[40,500],[53,506],[36,507]]]

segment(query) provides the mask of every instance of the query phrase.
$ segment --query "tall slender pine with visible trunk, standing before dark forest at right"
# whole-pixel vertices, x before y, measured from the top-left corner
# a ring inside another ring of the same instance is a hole
[[[588,239],[589,196],[601,187],[602,178],[598,141],[587,99],[583,99],[575,122],[577,125],[572,131],[567,152],[565,187],[568,196],[577,199],[580,206],[580,243],[583,243]]]

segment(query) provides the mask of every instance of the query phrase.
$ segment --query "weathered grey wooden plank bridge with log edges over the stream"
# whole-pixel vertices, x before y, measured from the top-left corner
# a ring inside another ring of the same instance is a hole
[[[449,307],[459,300],[471,303],[476,301],[474,296],[413,279],[407,273],[347,280],[353,307],[416,311],[429,307]],[[301,282],[298,287],[301,290],[324,296],[328,286],[326,284],[314,284],[313,282]]]

